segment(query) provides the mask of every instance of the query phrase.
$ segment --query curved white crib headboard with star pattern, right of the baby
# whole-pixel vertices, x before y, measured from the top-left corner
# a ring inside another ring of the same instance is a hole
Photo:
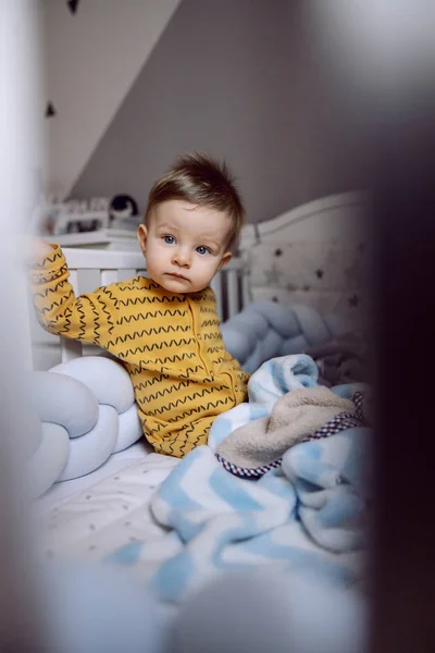
[[[363,192],[333,195],[247,225],[239,249],[248,301],[304,305],[358,328],[368,301],[368,201]]]

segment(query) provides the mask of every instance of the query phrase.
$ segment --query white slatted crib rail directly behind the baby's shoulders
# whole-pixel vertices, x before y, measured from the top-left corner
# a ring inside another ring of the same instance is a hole
[[[70,281],[76,295],[92,292],[100,285],[147,275],[141,254],[132,251],[107,251],[94,249],[63,249],[70,270]],[[243,261],[233,259],[212,281],[221,320],[227,320],[247,304],[244,292]],[[61,340],[62,362],[83,355],[82,343]]]

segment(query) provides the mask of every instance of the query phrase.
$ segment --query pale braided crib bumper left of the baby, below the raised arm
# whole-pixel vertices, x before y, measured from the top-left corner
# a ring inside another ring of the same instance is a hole
[[[33,372],[29,394],[39,420],[28,452],[34,497],[90,473],[142,435],[128,373],[103,356]]]

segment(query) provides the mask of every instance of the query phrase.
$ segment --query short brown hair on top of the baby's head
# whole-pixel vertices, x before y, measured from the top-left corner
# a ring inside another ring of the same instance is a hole
[[[145,224],[149,224],[152,209],[170,199],[227,213],[232,221],[227,247],[231,249],[237,242],[245,209],[226,163],[217,163],[200,152],[181,157],[149,192]]]

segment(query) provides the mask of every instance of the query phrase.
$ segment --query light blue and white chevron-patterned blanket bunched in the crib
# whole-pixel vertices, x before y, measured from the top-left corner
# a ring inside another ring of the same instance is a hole
[[[251,377],[249,403],[216,418],[209,445],[182,459],[153,496],[153,517],[164,528],[159,552],[135,542],[111,560],[148,565],[157,594],[173,602],[221,572],[249,567],[307,570],[339,583],[356,579],[364,549],[369,429],[298,444],[281,469],[258,481],[231,475],[214,455],[236,427],[269,415],[284,393],[315,386],[316,374],[303,355],[263,364]],[[336,391],[351,396],[356,389]]]

